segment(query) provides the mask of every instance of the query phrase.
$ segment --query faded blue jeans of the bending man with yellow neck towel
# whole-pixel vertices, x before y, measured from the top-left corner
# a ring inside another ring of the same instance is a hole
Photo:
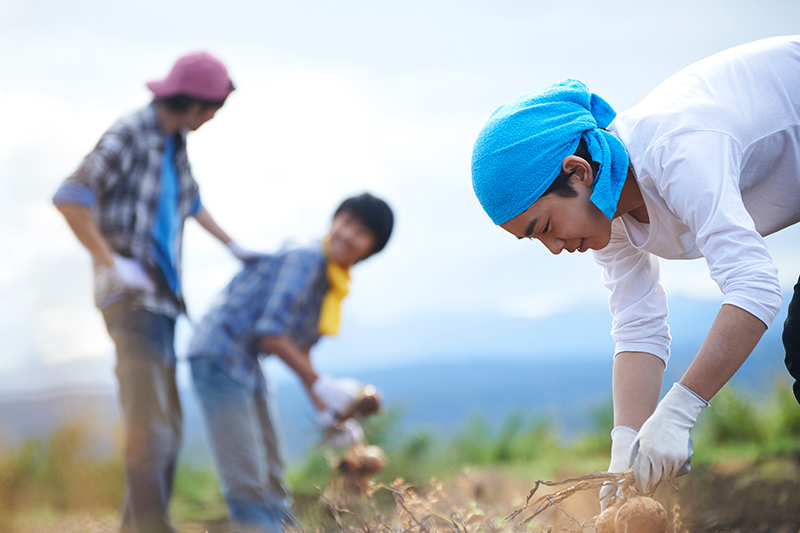
[[[189,363],[233,531],[281,531],[294,519],[282,483],[279,422],[268,398],[231,378],[212,357]]]

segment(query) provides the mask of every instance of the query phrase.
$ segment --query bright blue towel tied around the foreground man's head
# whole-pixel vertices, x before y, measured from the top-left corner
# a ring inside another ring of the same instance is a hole
[[[628,153],[606,128],[616,113],[578,80],[564,80],[500,106],[472,150],[472,188],[495,224],[508,222],[553,183],[581,138],[600,164],[591,200],[614,216]]]

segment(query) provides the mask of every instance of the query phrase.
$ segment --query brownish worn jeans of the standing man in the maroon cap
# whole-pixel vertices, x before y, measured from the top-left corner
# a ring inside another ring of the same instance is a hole
[[[103,309],[117,348],[117,379],[125,428],[124,533],[174,533],[167,519],[181,445],[175,384],[175,320],[129,298]]]

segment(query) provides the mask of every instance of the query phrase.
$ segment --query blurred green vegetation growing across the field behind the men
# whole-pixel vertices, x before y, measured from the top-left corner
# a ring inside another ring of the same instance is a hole
[[[378,481],[403,478],[427,486],[435,477],[445,483],[465,467],[492,468],[517,479],[556,479],[563,472],[588,473],[607,466],[612,426],[610,401],[593,413],[594,427],[565,442],[546,419],[509,416],[496,430],[481,418],[470,420],[453,437],[431,429],[400,435],[400,414],[384,413],[365,424],[367,440],[381,446],[386,469]],[[0,533],[22,530],[23,521],[88,513],[113,516],[123,492],[122,454],[91,452],[96,441],[91,418],[72,420],[46,439],[32,439],[0,453]],[[781,380],[765,399],[755,399],[735,387],[725,387],[701,415],[695,430],[693,464],[721,460],[800,459],[800,408],[788,384]],[[331,476],[337,456],[315,448],[290,469],[302,516],[310,519]],[[218,520],[225,516],[217,478],[211,467],[182,464],[178,471],[172,513],[181,521]],[[311,514],[308,514],[311,513]]]

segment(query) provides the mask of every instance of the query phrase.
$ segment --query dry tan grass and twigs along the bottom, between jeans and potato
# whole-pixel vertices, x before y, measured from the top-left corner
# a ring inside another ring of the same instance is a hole
[[[327,516],[318,525],[291,531],[593,533],[598,491],[604,483],[618,484],[627,495],[633,479],[630,474],[594,472],[559,482],[540,480],[528,490],[506,476],[493,479],[469,472],[448,487],[433,479],[426,487],[413,487],[403,479],[359,485],[338,478],[320,495],[320,507]]]

